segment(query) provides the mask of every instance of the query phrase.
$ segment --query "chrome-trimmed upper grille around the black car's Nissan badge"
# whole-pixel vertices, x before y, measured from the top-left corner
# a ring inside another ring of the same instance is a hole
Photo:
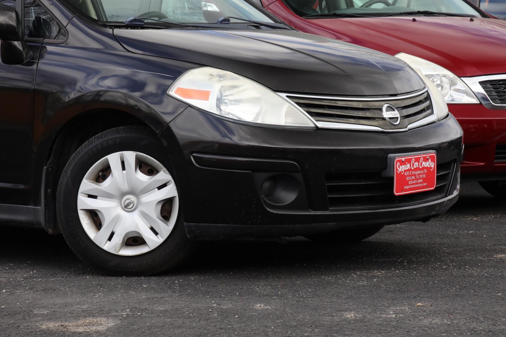
[[[286,94],[285,97],[297,104],[317,123],[346,123],[383,130],[398,130],[434,114],[428,90],[397,98],[334,99],[290,94]],[[399,112],[401,120],[398,125],[393,125],[383,116],[385,104],[391,104]]]

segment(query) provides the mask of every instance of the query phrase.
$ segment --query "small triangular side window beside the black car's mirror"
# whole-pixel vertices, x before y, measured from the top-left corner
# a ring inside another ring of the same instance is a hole
[[[25,0],[25,36],[64,40],[67,32],[39,3]]]

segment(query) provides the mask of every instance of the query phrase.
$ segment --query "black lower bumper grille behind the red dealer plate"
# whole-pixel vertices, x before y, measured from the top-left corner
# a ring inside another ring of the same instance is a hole
[[[404,196],[394,195],[394,178],[382,177],[382,171],[328,173],[325,179],[329,209],[394,208],[444,198],[451,185],[454,167],[454,161],[438,164],[434,190]]]

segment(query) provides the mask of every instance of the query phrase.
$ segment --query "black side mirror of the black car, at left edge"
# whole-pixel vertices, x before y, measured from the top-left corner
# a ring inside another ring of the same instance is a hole
[[[23,64],[33,56],[23,41],[23,25],[18,12],[0,4],[0,59],[5,64]]]

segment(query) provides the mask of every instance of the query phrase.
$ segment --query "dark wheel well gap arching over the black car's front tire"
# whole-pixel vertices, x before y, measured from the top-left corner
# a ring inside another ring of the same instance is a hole
[[[43,226],[49,233],[60,233],[56,217],[56,190],[70,157],[94,135],[114,127],[128,125],[148,126],[129,113],[120,110],[97,109],[75,116],[61,128],[46,161],[47,169],[42,192]]]

